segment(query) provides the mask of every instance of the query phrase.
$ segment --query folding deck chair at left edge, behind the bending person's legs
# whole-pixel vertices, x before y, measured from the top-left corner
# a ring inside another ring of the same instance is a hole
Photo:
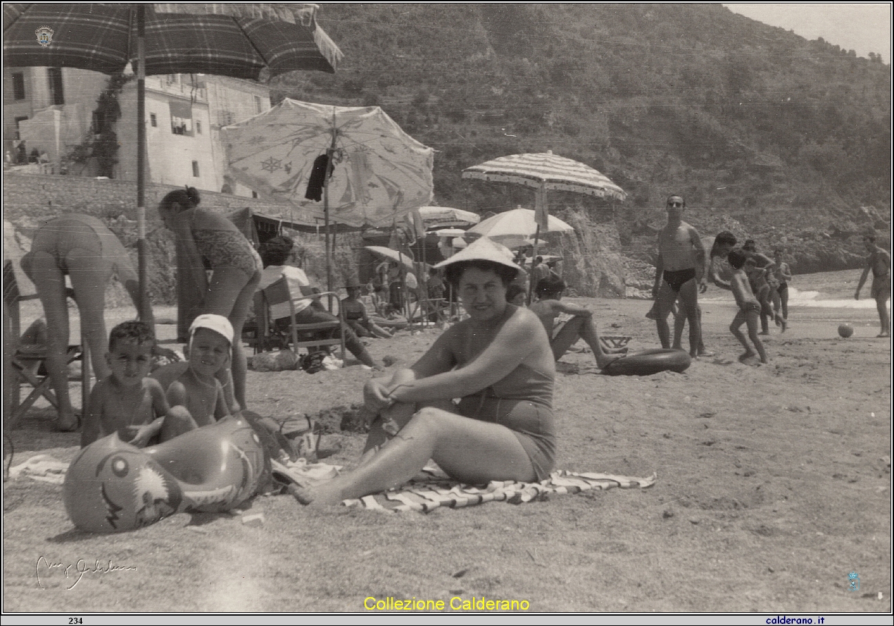
[[[36,299],[37,294],[22,296],[15,282],[10,262],[4,263],[4,334],[9,353],[6,356],[7,369],[4,385],[4,413],[9,416],[10,428],[15,428],[19,420],[30,410],[34,402],[43,396],[56,410],[59,402],[52,389],[52,381],[46,374],[40,373],[40,366],[46,360],[46,346],[20,345],[21,318],[19,303],[22,300]],[[69,297],[73,298],[70,292]],[[84,350],[83,337],[80,345],[70,345],[66,352],[66,365],[80,360],[81,416],[87,414],[90,397],[90,359],[89,351]],[[30,385],[31,392],[21,401],[21,385]]]

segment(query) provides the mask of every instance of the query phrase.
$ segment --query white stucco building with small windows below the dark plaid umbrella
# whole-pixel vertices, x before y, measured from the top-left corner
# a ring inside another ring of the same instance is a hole
[[[70,68],[4,69],[4,155],[15,161],[19,142],[29,155],[37,148],[47,167],[61,173],[66,155],[87,133],[104,122],[97,116],[97,97],[108,77]],[[125,84],[118,98],[121,118],[115,124],[120,147],[114,178],[136,180],[137,86]],[[270,108],[265,85],[203,74],[146,78],[146,139],[148,181],[190,185],[199,190],[252,195],[226,177],[219,129]],[[69,167],[72,174],[97,175],[95,165]]]

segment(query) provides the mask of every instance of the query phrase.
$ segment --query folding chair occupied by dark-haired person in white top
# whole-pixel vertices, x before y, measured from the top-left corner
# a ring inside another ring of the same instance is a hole
[[[335,292],[304,293],[304,296],[320,300],[326,298],[330,302],[338,302],[338,294]],[[271,309],[277,305],[288,304],[291,321],[287,331],[277,330]],[[344,360],[345,325],[341,319],[341,311],[333,313],[339,317],[337,321],[319,322],[314,324],[299,324],[295,321],[295,303],[289,290],[289,284],[285,278],[280,278],[273,284],[255,294],[255,315],[257,323],[256,353],[259,351],[273,350],[274,348],[286,348],[298,353],[300,348],[308,351],[316,351],[319,347],[339,345],[341,346],[341,358]],[[335,333],[335,331],[338,331]],[[333,336],[336,334],[337,336]]]

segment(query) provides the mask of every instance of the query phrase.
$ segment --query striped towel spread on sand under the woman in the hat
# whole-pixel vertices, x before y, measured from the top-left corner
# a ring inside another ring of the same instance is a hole
[[[492,480],[487,486],[462,485],[449,478],[434,464],[426,465],[415,478],[399,489],[383,494],[367,495],[358,500],[345,500],[345,506],[375,511],[429,512],[442,506],[458,509],[486,502],[521,504],[547,500],[550,494],[578,494],[583,491],[605,491],[614,487],[630,489],[653,486],[657,480],[614,476],[595,472],[571,472],[560,469],[539,483],[520,483],[514,480]]]

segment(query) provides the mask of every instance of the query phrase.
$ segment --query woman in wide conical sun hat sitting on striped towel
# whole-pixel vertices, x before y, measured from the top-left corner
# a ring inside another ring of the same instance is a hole
[[[506,301],[519,270],[510,250],[485,237],[435,267],[446,268],[468,319],[389,382],[367,382],[365,407],[375,419],[358,467],[296,489],[300,502],[337,504],[382,492],[429,459],[474,485],[549,477],[555,362],[536,315]]]

